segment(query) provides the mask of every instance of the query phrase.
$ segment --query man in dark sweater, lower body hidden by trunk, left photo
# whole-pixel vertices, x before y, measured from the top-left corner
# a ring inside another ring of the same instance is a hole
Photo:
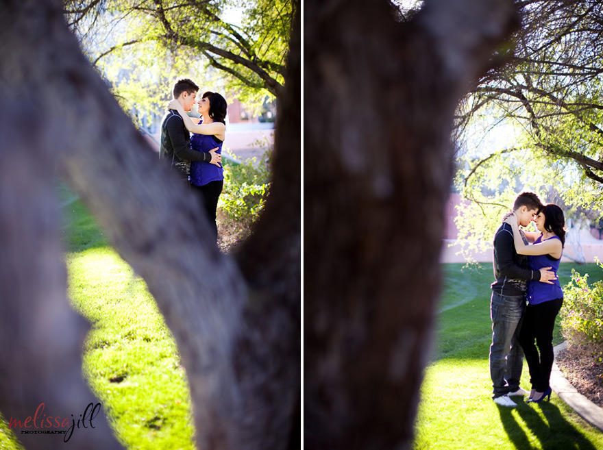
[[[174,98],[180,102],[185,111],[190,111],[195,104],[199,86],[190,79],[179,79],[173,88]],[[184,126],[182,117],[176,110],[168,110],[161,123],[161,143],[159,158],[169,161],[177,169],[182,181],[188,183],[188,171],[191,161],[210,162],[219,166],[222,157],[215,149],[208,153],[195,151],[190,148],[190,133]]]

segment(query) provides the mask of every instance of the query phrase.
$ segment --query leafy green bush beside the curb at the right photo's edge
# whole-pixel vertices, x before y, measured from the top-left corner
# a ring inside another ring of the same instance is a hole
[[[598,264],[603,269],[603,264]],[[589,284],[588,274],[571,270],[571,281],[563,289],[561,333],[569,345],[582,347],[598,358],[603,356],[603,282]]]

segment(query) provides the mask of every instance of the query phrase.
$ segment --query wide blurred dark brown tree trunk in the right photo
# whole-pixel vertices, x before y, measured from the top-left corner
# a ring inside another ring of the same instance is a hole
[[[304,436],[407,449],[440,290],[454,110],[510,0],[306,1]]]

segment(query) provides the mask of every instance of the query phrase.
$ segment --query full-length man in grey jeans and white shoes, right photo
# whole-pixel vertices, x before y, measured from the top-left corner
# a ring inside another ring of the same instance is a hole
[[[541,208],[542,203],[533,192],[523,192],[513,203],[517,223],[526,227]],[[524,232],[521,237],[528,244]],[[519,387],[524,352],[521,351],[517,336],[521,326],[521,316],[526,308],[528,280],[552,284],[556,275],[550,267],[532,271],[526,255],[518,255],[513,243],[513,230],[503,223],[494,236],[494,276],[491,285],[492,298],[490,316],[492,319],[492,345],[490,346],[490,376],[492,377],[494,403],[515,406],[509,396],[526,395]]]

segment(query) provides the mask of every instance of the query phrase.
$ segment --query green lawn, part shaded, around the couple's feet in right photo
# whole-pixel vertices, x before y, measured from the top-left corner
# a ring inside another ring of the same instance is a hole
[[[571,268],[603,278],[595,264],[561,264],[561,284]],[[445,265],[445,288],[437,316],[436,342],[421,388],[415,450],[595,450],[603,434],[575,414],[556,395],[550,403],[499,408],[491,400],[488,354],[491,343],[492,265]],[[558,325],[554,343],[561,342]],[[524,362],[522,386],[530,389]],[[518,397],[514,397],[517,402]]]

